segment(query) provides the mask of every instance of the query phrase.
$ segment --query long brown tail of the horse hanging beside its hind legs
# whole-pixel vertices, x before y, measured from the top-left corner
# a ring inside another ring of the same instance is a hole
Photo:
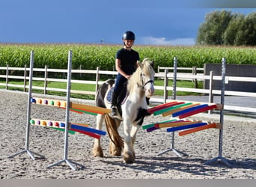
[[[109,138],[111,141],[117,146],[124,148],[124,139],[118,133],[118,124],[116,124],[115,119],[109,116],[109,114],[105,115],[105,123],[106,130],[109,134]]]

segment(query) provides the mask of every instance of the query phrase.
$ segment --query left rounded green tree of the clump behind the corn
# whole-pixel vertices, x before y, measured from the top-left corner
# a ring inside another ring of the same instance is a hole
[[[208,45],[222,45],[224,43],[224,33],[228,24],[233,18],[231,11],[214,10],[207,13],[205,22],[198,29],[196,43]]]

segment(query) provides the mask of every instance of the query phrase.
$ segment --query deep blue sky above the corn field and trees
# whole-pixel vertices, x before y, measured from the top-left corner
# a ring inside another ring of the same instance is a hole
[[[242,3],[243,2],[243,3]],[[194,45],[213,10],[248,14],[255,0],[1,0],[0,43]]]

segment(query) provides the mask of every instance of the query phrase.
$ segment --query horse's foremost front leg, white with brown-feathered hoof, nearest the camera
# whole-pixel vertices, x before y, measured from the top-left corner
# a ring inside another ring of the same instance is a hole
[[[132,152],[132,138],[130,136],[130,125],[129,119],[124,119],[124,162],[133,163],[135,158]]]

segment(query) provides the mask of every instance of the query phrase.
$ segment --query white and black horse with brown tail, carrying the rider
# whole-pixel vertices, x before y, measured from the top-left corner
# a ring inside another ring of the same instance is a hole
[[[135,73],[127,81],[127,94],[121,106],[118,108],[121,118],[113,118],[110,114],[97,114],[96,129],[102,129],[103,120],[109,134],[109,153],[112,156],[121,156],[122,150],[124,163],[135,161],[134,143],[136,133],[143,123],[144,117],[150,115],[147,112],[147,104],[150,96],[154,93],[153,61],[144,58],[138,63]],[[110,108],[111,104],[107,101],[108,93],[113,89],[115,80],[108,79],[99,88],[96,95],[96,105],[103,108]],[[147,98],[147,99],[146,99]],[[118,133],[121,122],[124,123],[124,138]],[[92,150],[93,156],[103,157],[103,149],[100,139],[95,138]]]

